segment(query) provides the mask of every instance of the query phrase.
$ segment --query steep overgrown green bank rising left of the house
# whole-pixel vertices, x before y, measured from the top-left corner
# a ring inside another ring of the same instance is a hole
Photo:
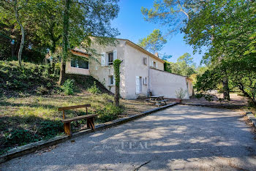
[[[61,88],[56,84],[59,69],[46,65],[23,63],[21,69],[17,61],[0,61],[0,96],[30,96],[35,94],[59,94]],[[86,91],[96,83],[102,93],[111,94],[94,77],[87,75],[67,75],[66,79],[75,80],[78,91]]]

